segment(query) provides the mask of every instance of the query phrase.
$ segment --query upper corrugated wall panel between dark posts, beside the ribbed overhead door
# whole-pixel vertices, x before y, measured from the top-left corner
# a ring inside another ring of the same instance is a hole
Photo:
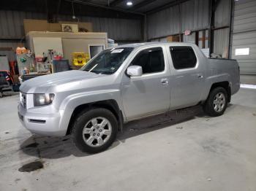
[[[230,0],[221,0],[217,4],[215,11],[214,26],[229,26],[230,23]]]

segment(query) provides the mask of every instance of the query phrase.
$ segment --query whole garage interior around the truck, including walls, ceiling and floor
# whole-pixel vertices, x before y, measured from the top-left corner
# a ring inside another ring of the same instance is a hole
[[[20,124],[22,82],[139,42],[235,59],[241,89],[220,117],[194,106],[128,122],[95,155]],[[0,190],[256,190],[255,53],[255,0],[1,1]]]

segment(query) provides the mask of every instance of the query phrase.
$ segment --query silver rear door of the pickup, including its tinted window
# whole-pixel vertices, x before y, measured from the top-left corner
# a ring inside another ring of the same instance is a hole
[[[204,67],[193,47],[170,46],[170,107],[193,106],[203,93]]]

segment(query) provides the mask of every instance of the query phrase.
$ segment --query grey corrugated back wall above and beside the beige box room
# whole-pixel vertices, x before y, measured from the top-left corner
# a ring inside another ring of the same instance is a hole
[[[0,39],[22,39],[23,19],[46,19],[42,13],[0,10]],[[118,41],[139,41],[143,39],[140,20],[79,17],[80,22],[91,22],[94,31],[107,32],[108,37]],[[59,15],[59,20],[72,20],[70,15]],[[0,42],[1,43],[1,42]]]

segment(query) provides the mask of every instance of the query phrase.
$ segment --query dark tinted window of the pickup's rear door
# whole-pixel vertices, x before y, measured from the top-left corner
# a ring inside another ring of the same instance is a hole
[[[175,69],[194,68],[197,63],[192,47],[170,47],[170,54]]]

